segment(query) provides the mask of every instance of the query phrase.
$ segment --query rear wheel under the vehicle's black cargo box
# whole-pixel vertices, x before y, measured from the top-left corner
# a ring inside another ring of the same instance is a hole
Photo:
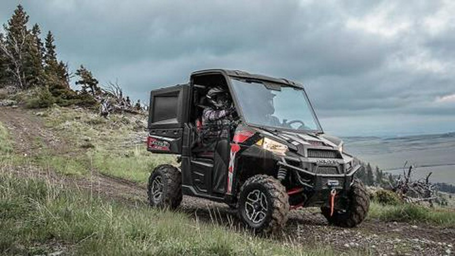
[[[156,167],[150,175],[147,194],[151,206],[175,209],[182,199],[179,170],[169,164]]]

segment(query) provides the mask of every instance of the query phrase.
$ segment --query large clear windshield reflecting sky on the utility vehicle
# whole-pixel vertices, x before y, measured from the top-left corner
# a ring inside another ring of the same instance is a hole
[[[231,78],[247,123],[302,131],[322,131],[303,89],[267,81]]]

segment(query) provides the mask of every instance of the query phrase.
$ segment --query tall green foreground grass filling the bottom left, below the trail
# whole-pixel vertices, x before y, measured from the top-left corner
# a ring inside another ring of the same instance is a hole
[[[0,253],[332,255],[251,236],[186,214],[131,207],[39,179],[0,175]]]

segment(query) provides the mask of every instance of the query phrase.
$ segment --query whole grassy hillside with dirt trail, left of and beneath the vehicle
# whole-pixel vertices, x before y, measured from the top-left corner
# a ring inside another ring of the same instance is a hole
[[[36,219],[25,216],[15,222],[3,207],[0,216],[9,224],[3,227],[2,234],[16,232],[17,238],[7,240],[0,249],[24,253],[36,245],[47,252],[94,254],[103,250],[106,254],[122,254],[129,250],[158,254],[440,255],[455,242],[451,225],[435,227],[375,219],[375,212],[380,211],[376,204],[372,217],[355,229],[329,226],[318,209],[292,211],[283,234],[270,238],[250,235],[229,207],[206,200],[184,197],[180,210],[173,213],[149,209],[145,191],[149,173],[157,164],[175,159],[145,150],[144,120],[145,116],[119,114],[106,120],[80,108],[0,108],[4,127],[0,138],[5,138],[0,143],[0,182],[4,191],[13,191],[10,197],[2,197],[2,205],[19,205],[11,207],[18,211],[30,209],[33,216],[46,221],[54,218],[60,225],[38,223],[34,227],[46,230],[43,234],[27,233],[29,227],[15,230],[14,223]],[[36,182],[37,178],[44,181]],[[27,199],[39,195],[41,190],[51,196]],[[48,214],[43,213],[42,205],[48,208]],[[109,229],[109,225],[101,224],[104,221],[117,228]],[[193,237],[196,231],[198,236]],[[111,233],[116,235],[110,236]]]

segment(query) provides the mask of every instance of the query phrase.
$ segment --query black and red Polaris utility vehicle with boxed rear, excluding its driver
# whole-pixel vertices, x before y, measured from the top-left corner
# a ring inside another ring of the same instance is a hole
[[[199,154],[197,123],[215,86],[230,93],[235,124],[230,138]],[[148,150],[175,154],[180,163],[152,172],[152,206],[175,208],[182,195],[224,202],[256,232],[279,230],[298,207],[321,207],[329,223],[342,227],[367,215],[369,197],[354,179],[360,164],[340,139],[324,134],[299,83],[238,70],[196,71],[187,84],[151,92],[148,130]]]

